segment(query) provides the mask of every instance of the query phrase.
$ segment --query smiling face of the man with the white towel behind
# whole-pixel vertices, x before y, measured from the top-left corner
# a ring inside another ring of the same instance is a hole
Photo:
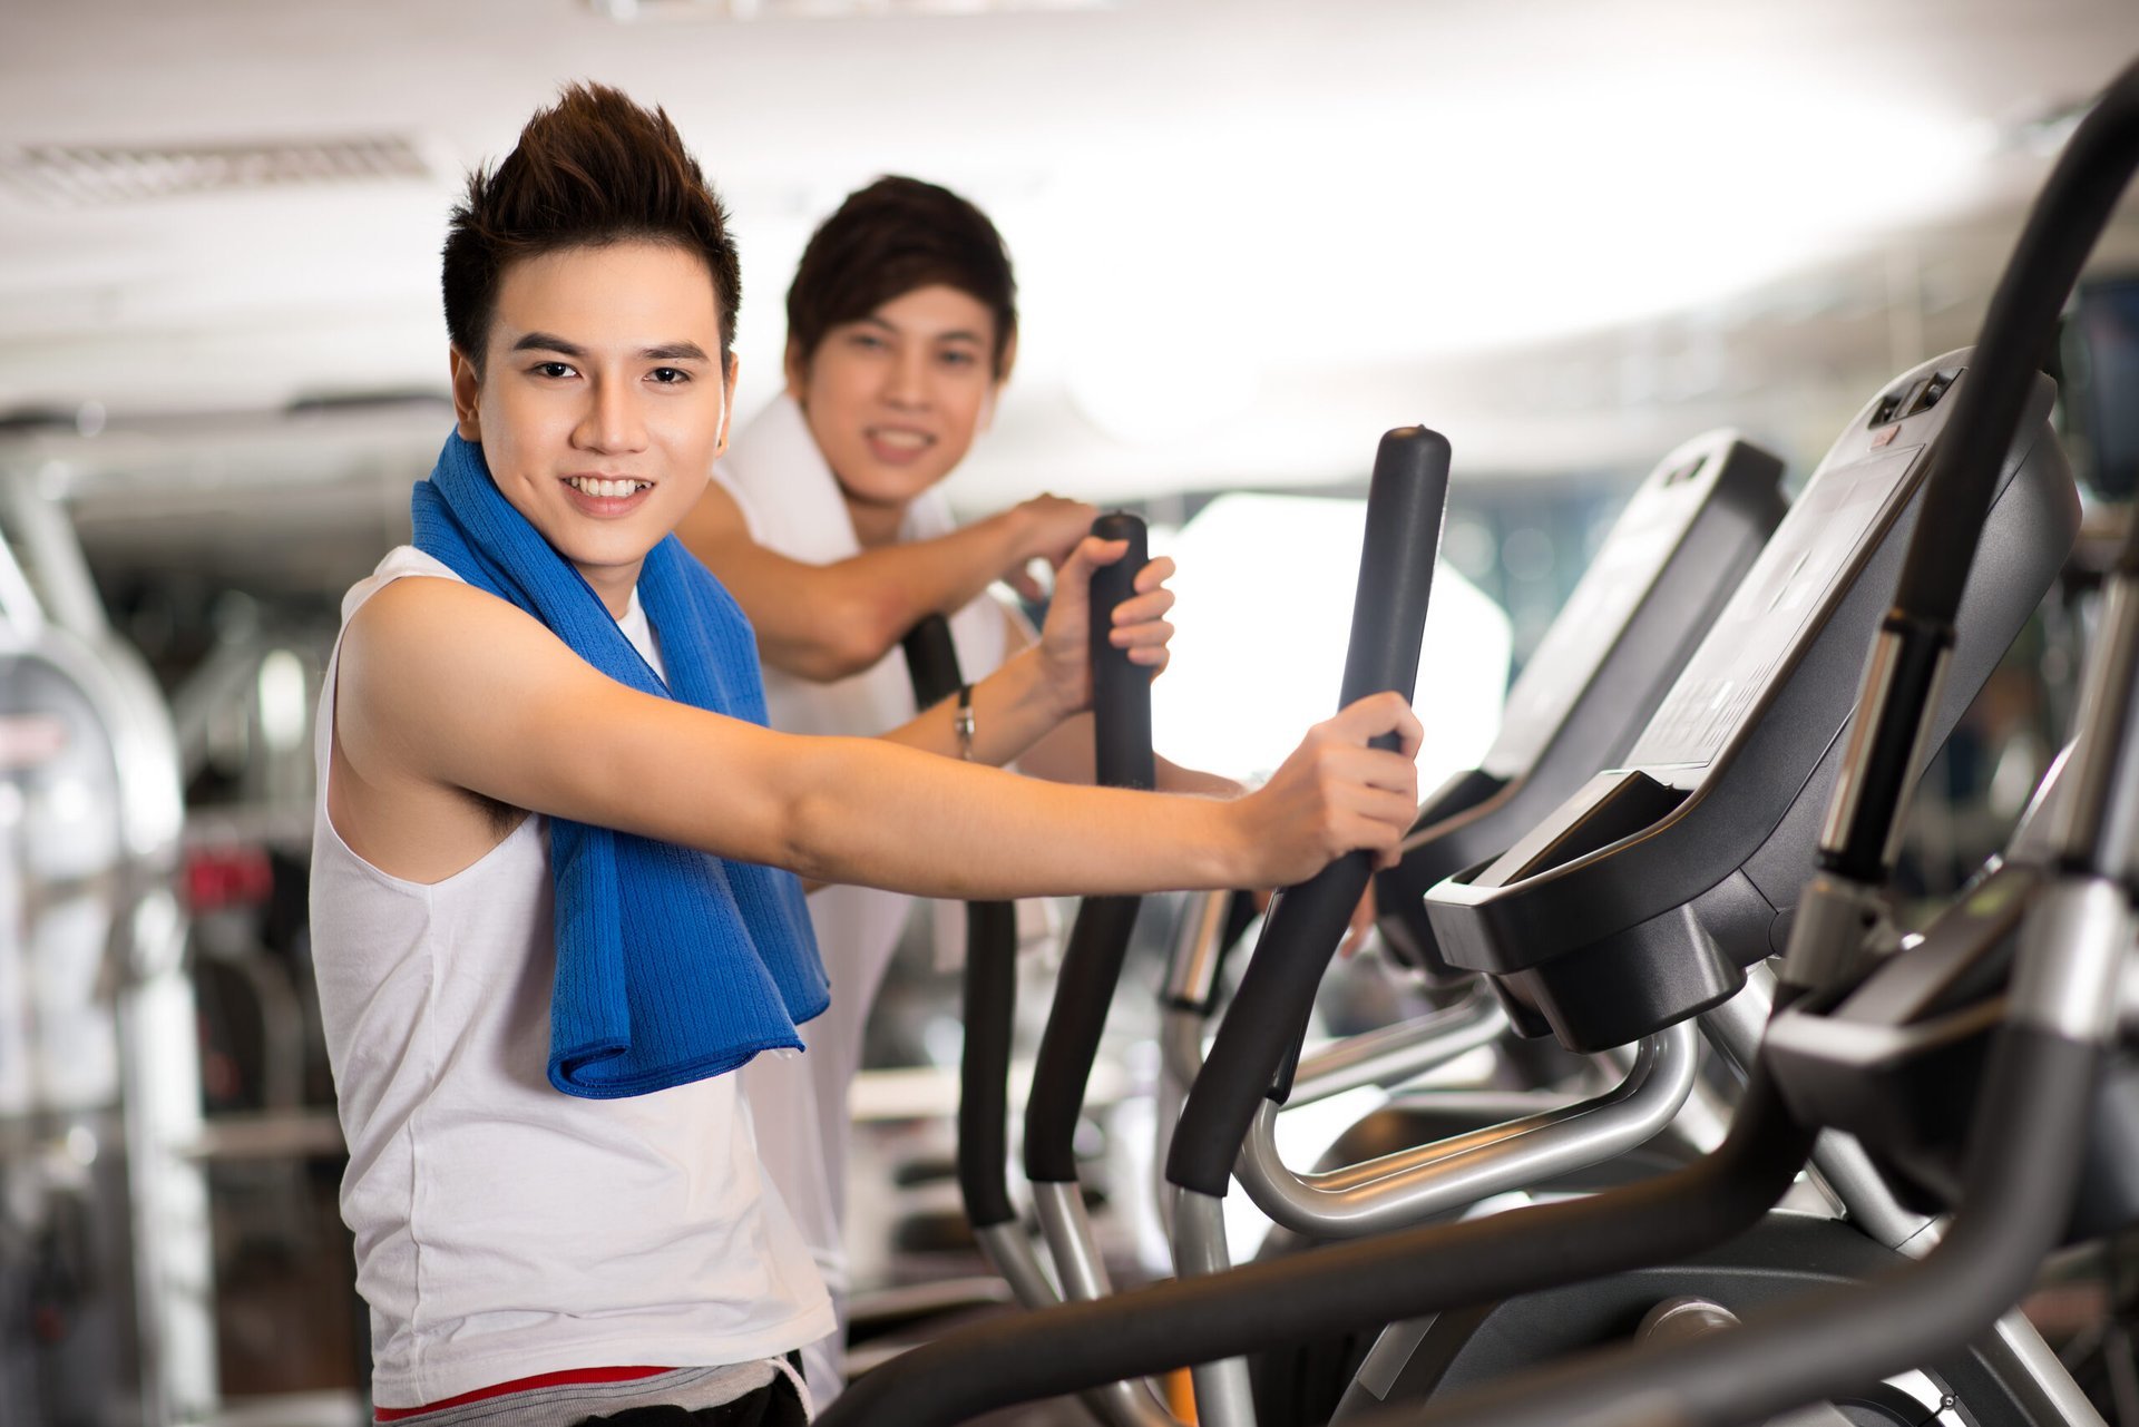
[[[965,460],[995,404],[995,319],[956,287],[920,287],[787,353],[800,402],[864,546]]]

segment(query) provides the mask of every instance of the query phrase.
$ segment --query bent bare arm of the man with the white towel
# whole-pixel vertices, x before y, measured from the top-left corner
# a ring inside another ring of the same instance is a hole
[[[809,565],[751,539],[742,507],[708,481],[676,537],[736,595],[766,663],[830,682],[883,659],[924,614],[950,614],[995,580],[1022,576],[1029,561],[1061,565],[1091,520],[1080,501],[1037,496],[937,539]]]

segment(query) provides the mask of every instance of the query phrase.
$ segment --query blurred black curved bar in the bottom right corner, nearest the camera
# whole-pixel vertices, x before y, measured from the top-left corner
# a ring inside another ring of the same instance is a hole
[[[2098,1063],[2094,1046],[2049,1031],[2000,1031],[1959,1211],[1919,1262],[1805,1292],[1730,1333],[1591,1354],[1360,1427],[1559,1427],[1604,1401],[1641,1401],[1645,1421],[1683,1427],[1765,1423],[1946,1356],[2019,1301],[2058,1243]]]

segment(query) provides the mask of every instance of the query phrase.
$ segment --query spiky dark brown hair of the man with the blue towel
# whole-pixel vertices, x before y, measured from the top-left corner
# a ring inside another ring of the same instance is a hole
[[[736,340],[742,263],[727,210],[665,109],[603,83],[573,83],[537,109],[494,169],[468,175],[445,233],[445,329],[483,370],[498,285],[513,263],[614,242],[674,244],[706,259],[721,310],[721,362]]]

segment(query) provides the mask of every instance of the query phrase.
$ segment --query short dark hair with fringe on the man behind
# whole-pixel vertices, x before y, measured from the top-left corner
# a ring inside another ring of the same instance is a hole
[[[995,314],[995,379],[1010,374],[1018,282],[1003,235],[967,199],[918,178],[886,175],[826,218],[787,289],[787,340],[802,364],[841,323],[862,321],[920,287],[954,287]]]

